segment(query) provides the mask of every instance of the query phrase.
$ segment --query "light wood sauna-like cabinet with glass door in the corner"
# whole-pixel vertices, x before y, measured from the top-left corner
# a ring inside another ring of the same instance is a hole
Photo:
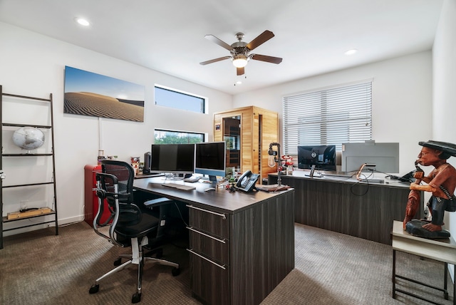
[[[278,140],[279,118],[274,111],[248,106],[214,113],[214,141],[227,141],[227,167],[235,167],[239,157],[240,172],[251,170],[266,178],[277,171],[268,166],[268,150],[269,143]]]

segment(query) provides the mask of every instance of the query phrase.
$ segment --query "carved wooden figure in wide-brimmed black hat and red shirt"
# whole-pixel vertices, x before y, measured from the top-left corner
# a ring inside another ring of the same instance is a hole
[[[456,156],[456,145],[433,140],[419,142],[418,144],[423,146],[423,148],[415,161],[417,170],[413,177],[416,180],[410,183],[410,193],[403,221],[404,229],[418,237],[450,237],[450,232],[442,230],[442,225],[445,211],[456,211],[456,197],[454,195],[456,169],[447,163],[448,158]],[[434,169],[429,175],[425,176],[418,164],[423,166],[432,165]],[[426,185],[420,185],[422,181]],[[427,202],[427,207],[429,207],[429,212],[432,216],[431,222],[418,219],[412,220],[420,205],[420,191],[432,192],[432,196]]]

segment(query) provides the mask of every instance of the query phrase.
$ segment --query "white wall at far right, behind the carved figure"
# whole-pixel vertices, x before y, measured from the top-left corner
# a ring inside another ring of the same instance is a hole
[[[432,137],[456,143],[456,1],[445,0],[432,48],[433,87]],[[456,166],[456,157],[448,159]],[[456,214],[447,212],[445,224],[456,237]],[[450,268],[450,272],[453,269]],[[453,274],[454,275],[454,274]]]

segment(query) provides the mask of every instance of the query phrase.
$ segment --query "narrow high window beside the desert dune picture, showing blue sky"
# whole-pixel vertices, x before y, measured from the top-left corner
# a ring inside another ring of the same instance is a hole
[[[205,113],[206,98],[170,88],[154,87],[155,105]]]

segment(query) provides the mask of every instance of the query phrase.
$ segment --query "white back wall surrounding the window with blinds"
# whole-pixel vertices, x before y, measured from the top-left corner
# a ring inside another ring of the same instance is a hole
[[[400,143],[400,173],[410,172],[420,151],[418,142],[432,136],[431,51],[235,95],[233,105],[274,110],[281,121],[284,95],[365,79],[373,79],[373,139]]]

